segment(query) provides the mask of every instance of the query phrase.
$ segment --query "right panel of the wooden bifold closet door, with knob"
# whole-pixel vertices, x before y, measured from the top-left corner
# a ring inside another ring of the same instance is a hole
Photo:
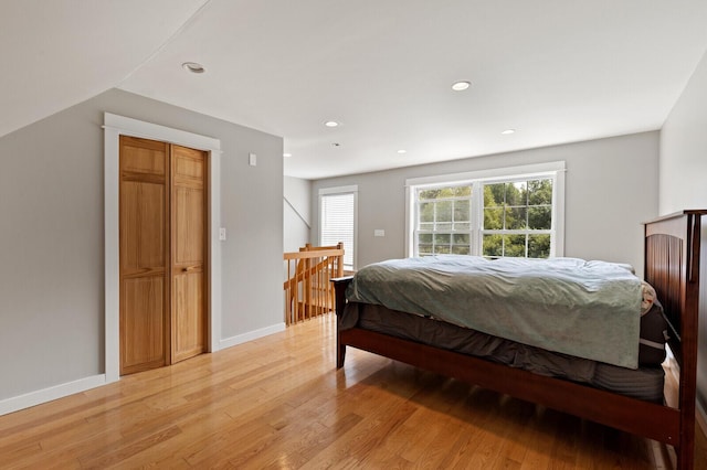
[[[171,362],[207,350],[207,154],[171,146]]]

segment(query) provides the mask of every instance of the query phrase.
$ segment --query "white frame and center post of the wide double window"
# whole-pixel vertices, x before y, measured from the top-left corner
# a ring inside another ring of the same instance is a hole
[[[483,193],[482,184],[514,181],[519,179],[549,178],[552,180],[552,226],[550,235],[550,256],[564,256],[564,161],[536,163],[519,167],[506,167],[464,173],[440,174],[435,177],[410,178],[405,180],[405,254],[415,254],[415,190],[421,188],[453,186],[472,184],[472,231],[471,252],[481,255]],[[475,184],[476,183],[476,184]]]

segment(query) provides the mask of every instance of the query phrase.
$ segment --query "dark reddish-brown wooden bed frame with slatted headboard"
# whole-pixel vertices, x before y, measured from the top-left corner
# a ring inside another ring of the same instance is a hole
[[[684,211],[645,224],[645,280],[655,288],[663,303],[672,329],[668,343],[679,365],[676,408],[536,375],[358,327],[338,332],[337,367],[344,366],[346,346],[369,351],[665,442],[675,448],[678,469],[693,469],[700,216],[704,214],[707,214],[707,210]],[[344,311],[345,291],[350,280],[351,277],[333,279],[337,314]]]

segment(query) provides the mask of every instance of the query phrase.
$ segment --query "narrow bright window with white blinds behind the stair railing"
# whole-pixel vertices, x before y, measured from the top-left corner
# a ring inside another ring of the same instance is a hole
[[[319,190],[319,246],[344,243],[344,269],[356,266],[356,213],[358,186]]]

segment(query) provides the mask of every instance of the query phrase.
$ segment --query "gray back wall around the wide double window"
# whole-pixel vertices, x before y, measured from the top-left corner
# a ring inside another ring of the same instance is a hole
[[[630,263],[643,273],[643,226],[657,213],[658,132],[408,167],[313,182],[313,238],[320,188],[358,184],[358,266],[404,257],[408,178],[564,160],[564,256]],[[383,228],[384,237],[373,237]],[[316,239],[313,239],[316,243]]]

